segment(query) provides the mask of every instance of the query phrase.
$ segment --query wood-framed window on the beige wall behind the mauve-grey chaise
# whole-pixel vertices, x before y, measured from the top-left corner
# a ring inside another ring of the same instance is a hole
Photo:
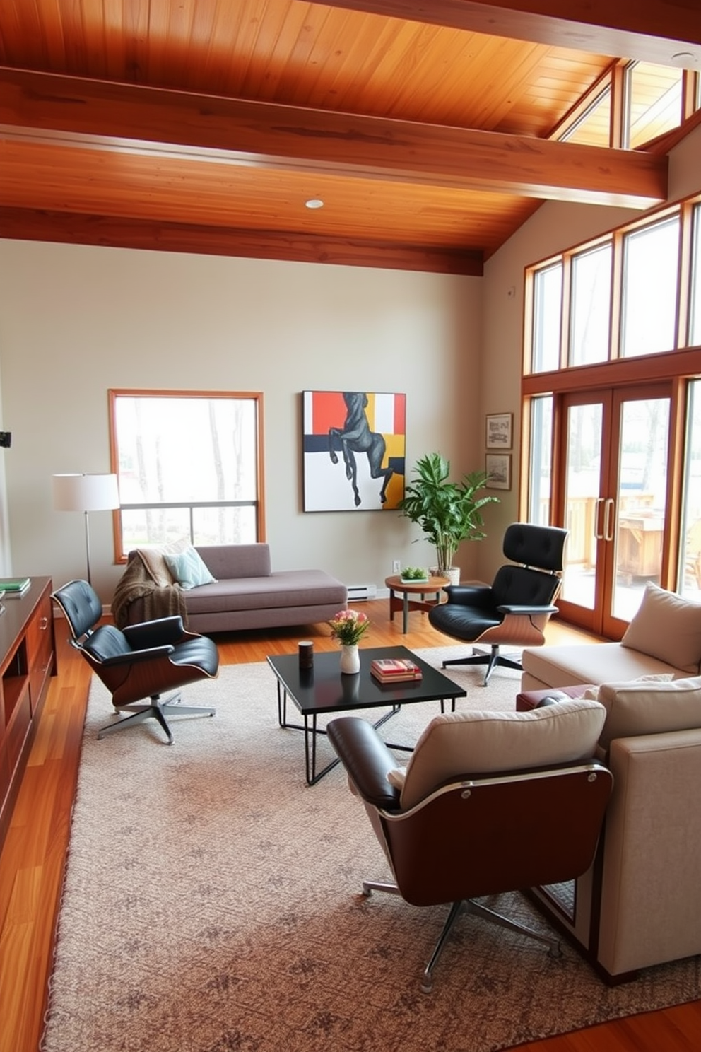
[[[109,392],[118,560],[138,547],[264,540],[262,396]]]

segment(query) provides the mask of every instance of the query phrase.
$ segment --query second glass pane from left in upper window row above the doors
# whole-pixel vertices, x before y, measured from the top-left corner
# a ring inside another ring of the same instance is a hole
[[[609,358],[611,244],[572,260],[570,364],[590,365]]]

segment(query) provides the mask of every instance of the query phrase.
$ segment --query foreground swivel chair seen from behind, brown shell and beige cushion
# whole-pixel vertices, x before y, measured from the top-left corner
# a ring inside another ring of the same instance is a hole
[[[436,716],[406,771],[374,728],[357,716],[333,720],[329,740],[348,772],[392,870],[393,882],[364,881],[414,906],[451,904],[424,969],[433,969],[462,911],[545,943],[559,943],[488,909],[475,898],[584,873],[594,859],[609,803],[611,772],[591,758],[603,706],[566,701],[531,712]]]

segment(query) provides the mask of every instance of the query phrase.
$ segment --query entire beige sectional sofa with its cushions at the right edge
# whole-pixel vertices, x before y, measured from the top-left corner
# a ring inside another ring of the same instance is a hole
[[[568,904],[562,889],[533,894],[610,982],[701,954],[699,662],[701,605],[655,586],[621,643],[523,654],[524,690],[598,684],[586,694],[606,708],[599,747],[614,791],[599,856]],[[660,674],[673,680],[639,681]]]

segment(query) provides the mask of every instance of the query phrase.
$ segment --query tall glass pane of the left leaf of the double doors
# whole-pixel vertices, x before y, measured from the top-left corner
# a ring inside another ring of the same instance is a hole
[[[603,406],[575,405],[568,413],[565,525],[570,530],[562,599],[594,609],[596,589],[596,515],[601,487]]]

